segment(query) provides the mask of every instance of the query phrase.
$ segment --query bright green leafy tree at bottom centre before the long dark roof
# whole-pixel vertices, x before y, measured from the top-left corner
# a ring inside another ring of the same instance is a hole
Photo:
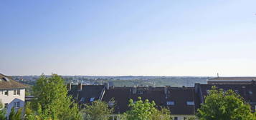
[[[133,102],[133,99],[129,100],[129,107],[131,110],[126,111],[123,114],[124,120],[169,120],[171,119],[169,109],[156,109],[154,101],[150,102],[148,99],[145,101],[138,97],[138,101]]]

